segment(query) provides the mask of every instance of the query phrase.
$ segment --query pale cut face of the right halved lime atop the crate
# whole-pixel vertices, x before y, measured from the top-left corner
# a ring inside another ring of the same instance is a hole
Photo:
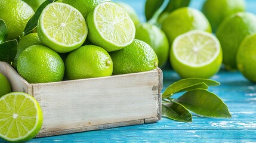
[[[100,35],[116,45],[131,43],[135,26],[128,13],[113,2],[104,2],[94,10],[94,23]]]

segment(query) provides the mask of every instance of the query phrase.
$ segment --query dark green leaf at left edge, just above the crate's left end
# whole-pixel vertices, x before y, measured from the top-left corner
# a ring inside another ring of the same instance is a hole
[[[6,41],[0,44],[0,61],[13,62],[17,52],[18,41]]]

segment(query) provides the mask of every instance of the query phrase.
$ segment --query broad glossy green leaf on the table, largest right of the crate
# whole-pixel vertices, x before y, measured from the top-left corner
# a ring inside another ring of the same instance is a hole
[[[207,117],[230,118],[227,105],[212,92],[206,89],[194,89],[186,92],[177,102],[184,105],[188,110]]]

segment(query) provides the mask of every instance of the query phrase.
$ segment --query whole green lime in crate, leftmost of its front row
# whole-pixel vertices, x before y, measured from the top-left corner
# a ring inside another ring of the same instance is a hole
[[[21,52],[17,70],[29,83],[58,82],[64,76],[64,63],[47,46],[33,45]]]

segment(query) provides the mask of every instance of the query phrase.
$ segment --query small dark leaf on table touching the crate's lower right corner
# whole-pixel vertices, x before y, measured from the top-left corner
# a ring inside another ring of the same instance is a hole
[[[162,116],[180,122],[192,122],[192,114],[177,102],[162,102]]]

